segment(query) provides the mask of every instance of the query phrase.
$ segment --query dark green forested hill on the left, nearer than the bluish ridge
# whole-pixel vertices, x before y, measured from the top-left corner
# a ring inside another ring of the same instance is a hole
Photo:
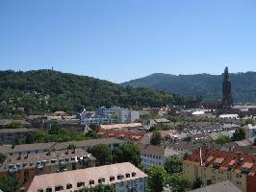
[[[2,116],[12,112],[12,108],[25,108],[28,114],[55,110],[74,112],[82,108],[113,105],[160,107],[170,103],[182,104],[185,99],[167,92],[156,92],[152,88],[122,87],[87,76],[53,70],[0,71]]]

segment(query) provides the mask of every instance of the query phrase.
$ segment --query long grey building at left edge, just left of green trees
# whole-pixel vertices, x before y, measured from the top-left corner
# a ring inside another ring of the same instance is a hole
[[[21,138],[26,138],[33,129],[20,128],[20,129],[0,129],[0,144],[12,144]]]

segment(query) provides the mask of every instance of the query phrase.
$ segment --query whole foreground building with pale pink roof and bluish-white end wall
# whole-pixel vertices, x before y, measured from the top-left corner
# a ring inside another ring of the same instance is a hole
[[[140,169],[130,162],[36,176],[28,192],[75,191],[99,183],[115,186],[116,192],[145,192],[146,178]]]

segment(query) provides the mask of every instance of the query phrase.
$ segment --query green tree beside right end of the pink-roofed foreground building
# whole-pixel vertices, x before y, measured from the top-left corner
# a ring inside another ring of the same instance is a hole
[[[162,192],[166,186],[167,173],[162,166],[153,166],[148,170],[147,186],[149,192]]]

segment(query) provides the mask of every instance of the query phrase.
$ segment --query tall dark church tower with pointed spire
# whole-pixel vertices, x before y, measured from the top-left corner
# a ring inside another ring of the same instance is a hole
[[[231,83],[228,74],[228,68],[225,68],[224,78],[222,82],[222,108],[231,108],[233,100],[231,96]]]

